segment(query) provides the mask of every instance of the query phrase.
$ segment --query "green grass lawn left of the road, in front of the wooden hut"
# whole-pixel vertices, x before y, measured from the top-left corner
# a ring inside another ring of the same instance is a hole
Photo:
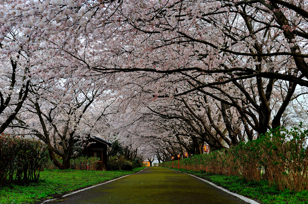
[[[102,183],[106,180],[136,173],[145,167],[132,171],[81,171],[81,170],[46,170],[40,174],[39,183],[29,186],[10,185],[0,187],[0,204],[34,203],[51,194],[63,194],[75,189]]]

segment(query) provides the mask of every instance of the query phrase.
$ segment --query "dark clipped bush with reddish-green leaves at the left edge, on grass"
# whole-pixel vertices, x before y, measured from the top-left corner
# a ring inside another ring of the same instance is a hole
[[[30,138],[0,135],[0,185],[37,182],[48,160],[46,145]]]

